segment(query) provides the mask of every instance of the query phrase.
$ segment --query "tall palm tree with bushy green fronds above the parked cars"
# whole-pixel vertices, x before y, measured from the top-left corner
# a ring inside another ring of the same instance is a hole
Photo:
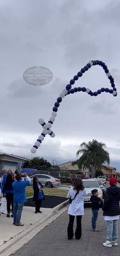
[[[96,170],[101,170],[101,165],[105,162],[110,163],[109,153],[104,149],[106,145],[97,140],[83,142],[77,151],[77,156],[82,154],[77,161],[73,162],[78,164],[79,168],[88,168],[91,172],[91,177],[94,178]]]

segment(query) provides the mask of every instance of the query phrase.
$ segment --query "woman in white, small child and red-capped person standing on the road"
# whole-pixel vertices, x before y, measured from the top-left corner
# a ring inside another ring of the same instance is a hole
[[[91,209],[92,219],[91,226],[93,232],[98,232],[100,229],[96,227],[98,211],[103,209],[103,216],[107,221],[107,237],[103,246],[112,247],[117,246],[117,220],[120,215],[120,188],[117,185],[117,179],[111,177],[109,179],[109,188],[105,193],[104,202],[99,198],[98,190],[93,189],[91,191]],[[70,188],[67,198],[70,200],[68,207],[69,223],[68,223],[68,239],[73,239],[73,223],[75,216],[77,216],[77,228],[75,230],[75,238],[80,239],[82,236],[82,215],[84,215],[84,196],[86,195],[86,189],[83,186],[81,179],[76,179],[73,187]]]

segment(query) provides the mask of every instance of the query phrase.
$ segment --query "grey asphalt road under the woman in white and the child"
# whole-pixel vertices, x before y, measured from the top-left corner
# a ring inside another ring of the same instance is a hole
[[[82,218],[82,237],[79,241],[68,240],[66,229],[68,225],[68,214],[64,212],[59,218],[45,227],[31,241],[14,253],[14,256],[119,256],[120,236],[118,246],[112,248],[103,247],[107,232],[106,221],[103,220],[102,211],[98,217],[100,232],[91,230],[91,208],[85,209]]]

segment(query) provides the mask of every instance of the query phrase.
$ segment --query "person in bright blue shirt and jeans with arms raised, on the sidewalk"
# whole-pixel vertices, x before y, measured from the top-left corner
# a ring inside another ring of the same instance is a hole
[[[25,188],[29,185],[29,180],[22,180],[21,175],[19,173],[16,175],[15,179],[16,181],[13,182],[12,184],[14,189],[13,225],[24,226],[24,224],[20,223],[20,219],[21,219],[24,203],[27,201]]]

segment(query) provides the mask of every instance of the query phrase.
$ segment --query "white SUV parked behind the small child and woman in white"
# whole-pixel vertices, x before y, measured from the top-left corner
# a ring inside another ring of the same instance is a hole
[[[86,189],[86,196],[84,196],[84,202],[85,203],[90,203],[90,198],[91,198],[91,191],[93,189],[98,189],[98,193],[99,193],[99,197],[101,198],[101,200],[103,200],[103,192],[101,190],[101,186],[98,183],[98,180],[95,179],[84,179],[82,180],[83,184],[84,184],[84,188]]]

